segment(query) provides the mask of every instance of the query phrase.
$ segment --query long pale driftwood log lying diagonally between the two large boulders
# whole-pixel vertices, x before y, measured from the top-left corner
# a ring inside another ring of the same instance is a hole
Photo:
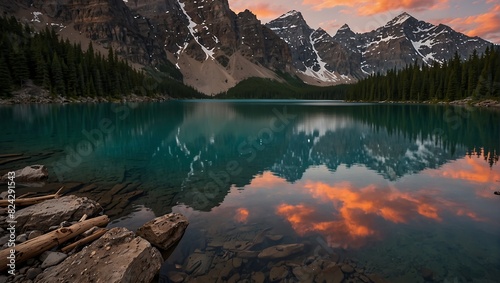
[[[94,226],[105,226],[109,222],[107,215],[102,215],[95,217],[83,222],[78,222],[69,227],[59,228],[47,234],[38,236],[24,243],[16,245],[15,247],[15,264],[27,261],[30,258],[36,257],[48,251],[53,247],[56,247],[80,234],[87,231]],[[0,271],[4,271],[9,267],[11,250],[14,249],[4,249],[0,251]]]

